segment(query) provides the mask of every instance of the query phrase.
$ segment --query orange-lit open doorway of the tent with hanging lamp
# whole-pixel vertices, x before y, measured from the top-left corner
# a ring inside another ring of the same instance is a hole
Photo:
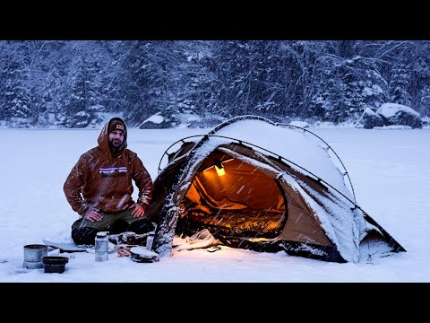
[[[219,176],[217,168],[225,173]],[[287,199],[275,179],[225,153],[211,153],[193,178],[181,204],[176,234],[208,229],[228,237],[277,237],[287,221]]]

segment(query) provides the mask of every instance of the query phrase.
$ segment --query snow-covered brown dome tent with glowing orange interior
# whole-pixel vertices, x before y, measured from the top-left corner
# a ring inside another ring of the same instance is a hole
[[[405,251],[357,205],[338,155],[307,129],[231,118],[172,144],[159,165],[165,158],[148,209],[159,217],[152,250],[161,257],[175,235],[203,229],[229,247],[334,262],[357,263],[375,246]]]

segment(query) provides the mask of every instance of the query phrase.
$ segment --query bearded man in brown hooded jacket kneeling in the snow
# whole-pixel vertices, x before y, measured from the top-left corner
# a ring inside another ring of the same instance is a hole
[[[64,182],[67,201],[82,218],[72,225],[77,245],[94,245],[98,231],[111,234],[155,230],[145,218],[152,197],[152,180],[136,153],[126,149],[127,127],[111,118],[101,129],[99,145],[83,153]],[[133,184],[139,188],[133,201]]]

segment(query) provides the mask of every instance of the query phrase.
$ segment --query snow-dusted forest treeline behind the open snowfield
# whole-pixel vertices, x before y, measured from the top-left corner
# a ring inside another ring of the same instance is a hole
[[[0,41],[0,122],[89,127],[121,113],[177,124],[253,114],[355,121],[400,103],[430,116],[430,41]]]

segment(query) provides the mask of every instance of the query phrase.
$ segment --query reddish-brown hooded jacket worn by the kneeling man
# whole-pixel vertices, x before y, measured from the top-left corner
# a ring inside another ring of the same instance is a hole
[[[124,149],[117,155],[111,153],[107,134],[111,120],[101,129],[99,145],[81,155],[64,182],[67,201],[73,211],[82,216],[92,208],[112,213],[133,205],[132,179],[139,188],[137,204],[146,210],[152,198],[152,180],[148,170],[136,153],[126,149],[126,127]]]

